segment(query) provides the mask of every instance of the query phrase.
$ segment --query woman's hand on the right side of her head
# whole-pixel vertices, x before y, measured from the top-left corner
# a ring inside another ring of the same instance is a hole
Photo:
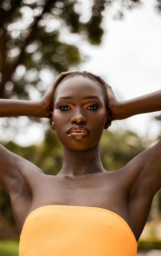
[[[109,112],[108,112],[109,124],[113,120],[122,119],[120,115],[121,103],[116,99],[111,86],[108,85],[102,78],[100,78],[100,76],[94,75],[90,72],[86,72],[86,73],[94,76],[106,89],[107,99],[108,99],[108,109],[109,109]]]

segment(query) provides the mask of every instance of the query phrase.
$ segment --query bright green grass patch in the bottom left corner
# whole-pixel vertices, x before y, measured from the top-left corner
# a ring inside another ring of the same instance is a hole
[[[0,241],[0,256],[18,256],[19,242],[13,240]]]

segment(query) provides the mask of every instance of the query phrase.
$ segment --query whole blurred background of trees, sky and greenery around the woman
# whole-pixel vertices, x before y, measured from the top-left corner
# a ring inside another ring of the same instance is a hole
[[[63,71],[87,70],[118,100],[161,89],[161,0],[0,1],[0,98],[40,100]],[[124,167],[161,139],[161,113],[113,121],[100,156],[107,171]],[[0,143],[40,167],[61,169],[63,151],[49,120],[0,119]],[[18,256],[10,197],[0,187],[0,256]],[[137,255],[161,255],[161,192],[153,199]]]

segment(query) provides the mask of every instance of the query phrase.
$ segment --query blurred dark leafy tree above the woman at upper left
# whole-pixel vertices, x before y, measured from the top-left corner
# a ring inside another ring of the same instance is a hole
[[[74,44],[69,45],[59,38],[62,26],[67,27],[71,33],[86,32],[91,43],[100,44],[103,29],[99,25],[102,21],[101,11],[104,10],[106,1],[99,0],[97,5],[95,3],[93,15],[87,23],[79,22],[80,14],[74,11],[76,3],[77,1],[69,0],[3,1],[0,8],[1,97],[12,97],[12,92],[8,93],[11,90],[11,84],[4,87],[5,83],[11,80],[14,85],[13,92],[16,92],[17,98],[29,99],[25,85],[29,82],[32,82],[33,86],[37,85],[40,81],[36,76],[39,70],[47,67],[56,71],[57,75],[67,71],[71,65],[76,66],[84,60]],[[30,13],[26,21],[24,12]],[[54,22],[58,25],[57,28]],[[50,28],[47,23],[50,23]],[[35,73],[36,77],[32,80],[22,75],[18,77],[14,72],[20,64],[24,65],[26,71]],[[44,93],[40,88],[39,91]]]

